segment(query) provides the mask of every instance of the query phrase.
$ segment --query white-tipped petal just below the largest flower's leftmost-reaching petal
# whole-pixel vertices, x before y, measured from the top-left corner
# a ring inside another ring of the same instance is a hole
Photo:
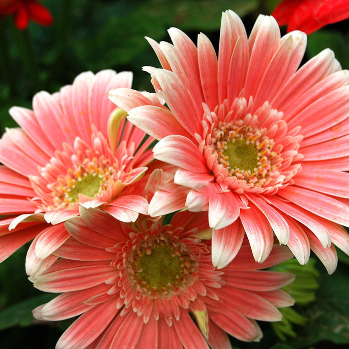
[[[191,137],[172,112],[161,107],[147,105],[133,108],[127,119],[157,140],[173,134]]]

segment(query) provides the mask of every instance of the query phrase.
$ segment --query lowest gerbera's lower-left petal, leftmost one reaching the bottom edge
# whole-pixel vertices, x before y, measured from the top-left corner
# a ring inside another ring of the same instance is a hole
[[[85,348],[104,331],[117,311],[115,299],[95,306],[69,326],[59,338],[56,349]]]

